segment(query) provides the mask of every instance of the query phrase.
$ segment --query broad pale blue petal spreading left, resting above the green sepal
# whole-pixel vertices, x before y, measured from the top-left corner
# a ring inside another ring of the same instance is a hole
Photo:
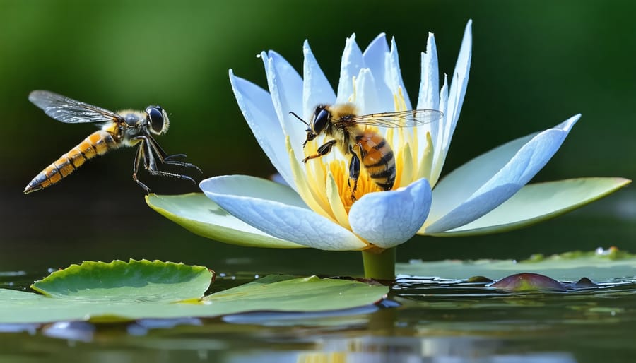
[[[241,175],[213,177],[201,190],[223,209],[267,234],[332,251],[363,249],[355,234],[307,208],[292,189]]]

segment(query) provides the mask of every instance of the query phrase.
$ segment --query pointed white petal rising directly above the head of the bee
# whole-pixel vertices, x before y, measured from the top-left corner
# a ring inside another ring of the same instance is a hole
[[[336,93],[329,85],[329,81],[320,69],[309,42],[302,44],[302,52],[305,54],[303,65],[302,84],[302,114],[300,117],[311,117],[317,105],[332,105],[336,102]],[[311,120],[305,119],[309,122]]]

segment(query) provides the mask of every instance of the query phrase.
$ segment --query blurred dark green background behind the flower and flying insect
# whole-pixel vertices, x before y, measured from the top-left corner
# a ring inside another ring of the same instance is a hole
[[[299,71],[310,44],[336,86],[345,38],[360,47],[396,37],[406,88],[416,97],[420,52],[434,32],[440,71],[452,73],[473,19],[468,93],[444,173],[572,114],[583,117],[537,181],[636,177],[636,3],[633,1],[51,1],[0,0],[0,270],[81,260],[161,258],[228,271],[355,273],[358,254],[262,250],[194,236],[146,207],[131,179],[134,150],[85,165],[25,196],[37,172],[90,125],[54,121],[27,100],[53,90],[108,109],[159,104],[170,132],[158,141],[187,153],[201,177],[274,172],[230,90],[228,69],[266,85],[256,55],[275,49]],[[160,194],[196,191],[141,179]],[[633,186],[571,215],[489,237],[416,237],[409,258],[524,258],[616,245],[636,250]]]

